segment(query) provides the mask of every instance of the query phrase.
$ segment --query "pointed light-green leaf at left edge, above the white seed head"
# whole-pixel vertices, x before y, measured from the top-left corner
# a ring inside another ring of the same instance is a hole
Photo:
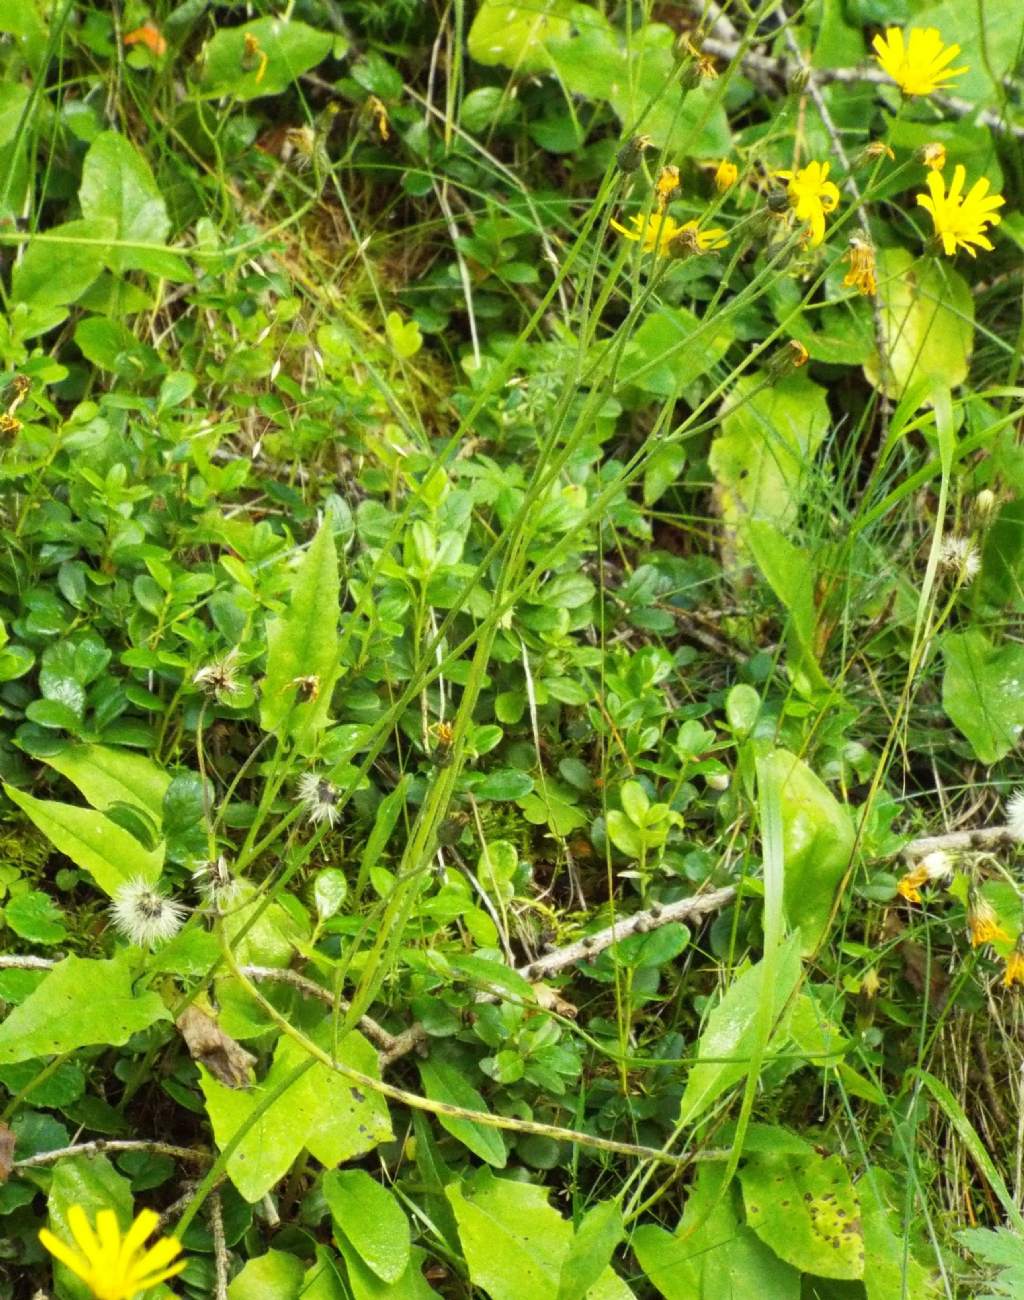
[[[143,849],[134,835],[122,831],[96,809],[36,800],[12,785],[5,785],[4,793],[55,849],[88,871],[105,894],[113,897],[129,880],[143,879],[153,884],[160,879],[162,844],[152,850]]]

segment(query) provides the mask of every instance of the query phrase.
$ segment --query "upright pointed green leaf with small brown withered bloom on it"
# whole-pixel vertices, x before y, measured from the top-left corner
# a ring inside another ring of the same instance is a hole
[[[260,725],[303,754],[327,724],[339,671],[338,616],[338,552],[325,521],[295,572],[288,612],[266,628]],[[312,685],[304,688],[303,679]]]

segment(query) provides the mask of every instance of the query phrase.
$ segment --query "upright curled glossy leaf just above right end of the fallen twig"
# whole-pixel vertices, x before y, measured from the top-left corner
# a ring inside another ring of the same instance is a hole
[[[800,931],[808,954],[825,932],[836,890],[850,867],[854,827],[846,809],[795,754],[777,749],[762,763],[778,783],[786,920],[790,930]]]

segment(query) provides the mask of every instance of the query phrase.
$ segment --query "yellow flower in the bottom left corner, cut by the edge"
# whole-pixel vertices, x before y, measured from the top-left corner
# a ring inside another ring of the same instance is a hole
[[[133,1300],[139,1291],[148,1291],[185,1268],[185,1260],[170,1262],[182,1248],[173,1236],[161,1236],[156,1245],[144,1249],[146,1238],[159,1222],[159,1214],[142,1210],[122,1236],[114,1212],[100,1210],[94,1232],[82,1206],[73,1205],[68,1210],[68,1227],[78,1249],[45,1227],[39,1230],[39,1240],[92,1290],[96,1300]]]

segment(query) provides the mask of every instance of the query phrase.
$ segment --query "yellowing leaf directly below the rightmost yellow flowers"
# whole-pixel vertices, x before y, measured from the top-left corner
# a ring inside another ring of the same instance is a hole
[[[906,248],[878,248],[878,303],[885,384],[877,351],[864,364],[876,387],[899,399],[911,385],[921,385],[924,400],[930,380],[947,387],[964,381],[975,338],[975,300],[967,281],[947,261],[917,257]]]

